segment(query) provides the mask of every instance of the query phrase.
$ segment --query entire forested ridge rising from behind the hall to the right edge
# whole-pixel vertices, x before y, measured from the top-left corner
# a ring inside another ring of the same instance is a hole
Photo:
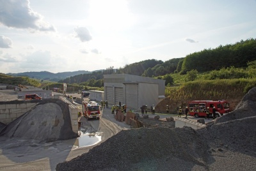
[[[235,68],[247,67],[248,62],[256,61],[256,40],[241,40],[235,44],[220,45],[217,48],[204,49],[200,52],[189,54],[186,57],[174,58],[168,61],[148,59],[138,63],[126,64],[124,68],[114,69],[109,67],[104,71],[76,75],[60,82],[81,83],[90,79],[99,80],[104,74],[127,73],[145,77],[158,77],[170,73],[186,74],[187,71],[198,72],[220,70],[234,66]]]

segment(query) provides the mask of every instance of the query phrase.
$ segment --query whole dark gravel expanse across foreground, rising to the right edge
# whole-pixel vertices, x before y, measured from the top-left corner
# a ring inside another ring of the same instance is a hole
[[[120,131],[56,170],[255,170],[256,87],[205,128]]]

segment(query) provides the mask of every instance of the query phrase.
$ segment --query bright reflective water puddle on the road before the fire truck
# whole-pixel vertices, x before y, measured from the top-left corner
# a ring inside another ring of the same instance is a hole
[[[79,147],[89,147],[101,141],[102,132],[82,133],[78,138]]]

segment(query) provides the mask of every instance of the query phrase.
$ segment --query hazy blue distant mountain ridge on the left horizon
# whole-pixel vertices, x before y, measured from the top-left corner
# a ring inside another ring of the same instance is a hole
[[[31,71],[31,72],[24,72],[24,73],[7,73],[6,75],[12,75],[15,77],[29,77],[29,78],[35,78],[38,80],[49,80],[49,81],[54,81],[58,82],[59,80],[63,80],[68,77],[73,77],[75,75],[80,75],[84,73],[92,73],[91,71],[70,71],[70,72],[60,72],[60,73],[51,73],[49,71]]]

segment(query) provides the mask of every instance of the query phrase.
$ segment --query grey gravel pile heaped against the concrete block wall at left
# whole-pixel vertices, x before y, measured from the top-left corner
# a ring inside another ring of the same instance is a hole
[[[51,142],[75,138],[77,134],[72,131],[68,104],[46,99],[8,124],[0,136]]]

